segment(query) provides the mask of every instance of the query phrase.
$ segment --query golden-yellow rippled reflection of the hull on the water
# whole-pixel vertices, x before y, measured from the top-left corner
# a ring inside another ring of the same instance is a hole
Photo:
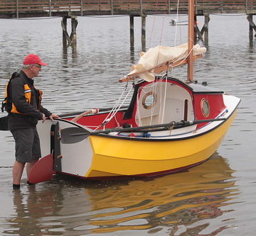
[[[232,173],[225,159],[215,157],[188,172],[131,181],[107,191],[87,189],[92,210],[114,209],[94,215],[90,225],[98,227],[92,232],[153,230],[156,225],[176,232],[180,225],[216,218],[223,214],[220,207],[238,194]]]

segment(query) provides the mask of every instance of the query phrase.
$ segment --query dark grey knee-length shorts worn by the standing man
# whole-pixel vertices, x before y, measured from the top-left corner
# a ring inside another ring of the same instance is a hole
[[[41,157],[40,140],[36,128],[11,130],[15,140],[17,162],[33,162]]]

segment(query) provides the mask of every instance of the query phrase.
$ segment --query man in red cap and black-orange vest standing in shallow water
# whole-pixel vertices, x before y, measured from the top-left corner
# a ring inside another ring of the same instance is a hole
[[[20,187],[23,168],[26,164],[26,174],[41,157],[41,148],[36,124],[38,120],[53,120],[59,118],[41,106],[42,91],[33,86],[33,77],[38,77],[41,62],[37,55],[27,55],[23,60],[21,72],[14,73],[6,88],[11,104],[8,115],[9,130],[15,140],[16,161],[13,167],[13,187]],[[29,183],[28,183],[29,184]]]

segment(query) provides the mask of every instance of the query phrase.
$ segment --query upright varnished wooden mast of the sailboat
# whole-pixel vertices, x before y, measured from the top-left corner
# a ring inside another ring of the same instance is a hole
[[[193,81],[193,23],[194,23],[194,0],[188,0],[188,78]]]

